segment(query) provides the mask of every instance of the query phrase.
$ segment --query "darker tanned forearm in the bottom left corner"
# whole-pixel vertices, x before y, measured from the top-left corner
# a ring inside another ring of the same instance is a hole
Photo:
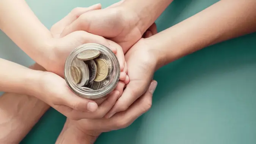
[[[0,97],[0,143],[18,144],[48,108],[46,103],[29,95],[3,94]]]

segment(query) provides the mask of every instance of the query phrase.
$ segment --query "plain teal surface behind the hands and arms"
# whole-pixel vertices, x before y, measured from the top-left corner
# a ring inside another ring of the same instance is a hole
[[[50,28],[75,7],[118,0],[27,0]],[[174,0],[157,19],[158,31],[218,0]],[[33,64],[0,31],[0,58]],[[96,144],[255,144],[256,33],[185,56],[155,73],[158,81],[148,113],[129,127],[103,133]],[[50,109],[21,144],[53,144],[65,117]]]

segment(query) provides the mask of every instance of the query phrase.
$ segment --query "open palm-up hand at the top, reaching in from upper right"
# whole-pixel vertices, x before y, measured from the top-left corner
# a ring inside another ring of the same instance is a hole
[[[81,14],[66,26],[61,37],[83,30],[117,42],[126,53],[141,38],[144,31],[139,28],[142,23],[138,14],[132,9],[122,7],[122,2],[123,0],[108,8]]]

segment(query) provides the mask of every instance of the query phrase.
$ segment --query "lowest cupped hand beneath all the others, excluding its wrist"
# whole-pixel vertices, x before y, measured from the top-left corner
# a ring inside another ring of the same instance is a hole
[[[152,84],[157,83],[152,80]],[[156,85],[150,86],[151,88]],[[152,94],[154,89],[148,89],[139,99],[137,99],[126,111],[115,114],[110,119],[81,119],[80,121],[71,121],[67,119],[65,126],[73,130],[79,130],[85,135],[99,136],[102,132],[118,130],[128,127],[135,119],[148,111],[152,105]]]

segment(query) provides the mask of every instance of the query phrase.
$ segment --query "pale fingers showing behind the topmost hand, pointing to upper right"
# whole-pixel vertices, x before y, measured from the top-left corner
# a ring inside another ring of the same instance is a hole
[[[70,25],[74,20],[76,20],[81,14],[86,13],[88,11],[96,10],[96,9],[101,9],[101,4],[98,3],[96,5],[92,5],[88,8],[74,8],[72,11],[65,16],[63,19],[55,23],[52,28],[51,28],[51,33],[54,38],[59,37],[64,28],[68,25]]]

